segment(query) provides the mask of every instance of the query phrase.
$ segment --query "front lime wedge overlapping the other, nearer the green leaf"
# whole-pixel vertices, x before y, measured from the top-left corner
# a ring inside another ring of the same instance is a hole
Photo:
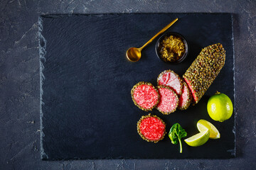
[[[210,136],[210,130],[206,130],[204,132],[200,132],[196,135],[188,137],[184,141],[186,142],[187,145],[191,147],[199,147],[208,141],[209,136]]]

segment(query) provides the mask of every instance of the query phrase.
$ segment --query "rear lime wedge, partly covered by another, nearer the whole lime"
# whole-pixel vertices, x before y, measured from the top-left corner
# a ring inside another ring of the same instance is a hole
[[[206,130],[210,130],[210,139],[218,139],[220,138],[220,132],[218,132],[218,129],[215,128],[213,124],[208,122],[207,120],[199,120],[196,124],[199,132],[204,132]]]

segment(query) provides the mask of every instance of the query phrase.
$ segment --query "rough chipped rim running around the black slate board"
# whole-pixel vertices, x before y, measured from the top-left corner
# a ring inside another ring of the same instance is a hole
[[[40,138],[41,138],[41,159],[48,160],[48,155],[46,152],[44,152],[43,149],[43,111],[42,111],[42,105],[43,103],[43,80],[45,79],[43,75],[43,63],[45,62],[46,58],[46,39],[43,38],[42,31],[43,31],[43,19],[42,18],[63,18],[63,17],[70,17],[70,16],[105,16],[105,15],[134,15],[134,14],[152,14],[152,13],[88,13],[88,14],[47,14],[47,15],[41,15],[38,17],[38,45],[39,45],[39,62],[40,62]],[[233,45],[233,70],[235,70],[235,49],[234,49],[234,35],[233,35],[233,13],[154,13],[154,14],[230,14],[231,17],[231,29],[232,29],[232,45]],[[235,72],[233,72],[233,81],[234,81],[234,113],[235,113]],[[236,124],[236,114],[234,114],[234,122]],[[236,125],[233,126],[233,133],[235,135],[235,128]],[[235,141],[236,142],[236,135],[235,135]],[[234,145],[234,149],[228,150],[230,152],[232,157],[236,156],[236,145]],[[231,157],[231,158],[232,158]],[[74,159],[74,158],[73,158]],[[79,159],[79,158],[75,158]],[[92,158],[97,159],[97,158]],[[109,158],[102,158],[102,159],[109,159]],[[137,158],[120,158],[120,159],[137,159]],[[149,158],[150,159],[150,158]],[[158,158],[155,158],[158,159]],[[161,158],[159,158],[161,159]],[[192,159],[192,158],[186,158],[186,159]],[[200,158],[204,159],[204,158]],[[206,158],[208,159],[208,158]],[[230,159],[230,158],[219,158],[219,159]],[[69,159],[51,159],[51,160],[69,160]],[[90,160],[90,159],[89,159]]]

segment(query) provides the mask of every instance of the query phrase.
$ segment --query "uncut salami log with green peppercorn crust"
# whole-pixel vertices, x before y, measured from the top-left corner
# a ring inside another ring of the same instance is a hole
[[[225,64],[225,50],[220,43],[203,48],[191,67],[183,74],[195,103],[206,93]]]

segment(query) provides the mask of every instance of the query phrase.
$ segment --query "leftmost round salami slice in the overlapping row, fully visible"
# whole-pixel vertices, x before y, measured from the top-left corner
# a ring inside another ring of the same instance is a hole
[[[132,101],[143,111],[151,111],[159,102],[159,94],[156,88],[147,82],[137,83],[131,91]]]

